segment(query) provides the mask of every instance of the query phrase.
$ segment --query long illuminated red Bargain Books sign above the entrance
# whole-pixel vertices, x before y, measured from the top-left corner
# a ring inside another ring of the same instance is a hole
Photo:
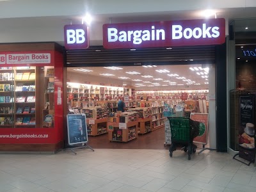
[[[173,20],[103,25],[105,49],[225,43],[225,19]]]

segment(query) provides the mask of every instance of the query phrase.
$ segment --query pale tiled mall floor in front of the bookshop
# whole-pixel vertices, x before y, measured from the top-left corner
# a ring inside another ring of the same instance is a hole
[[[0,154],[0,192],[238,192],[256,191],[255,166],[206,151],[191,161],[178,150],[77,149],[47,154]]]

